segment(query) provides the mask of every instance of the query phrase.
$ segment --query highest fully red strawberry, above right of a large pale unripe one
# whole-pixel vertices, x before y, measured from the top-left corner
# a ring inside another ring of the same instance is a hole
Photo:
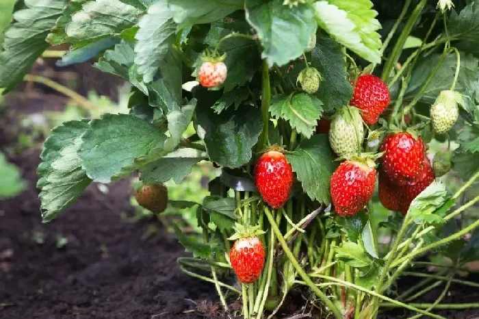
[[[381,113],[389,105],[387,85],[374,75],[361,75],[356,81],[350,105],[361,110],[361,116],[367,125],[378,122]]]

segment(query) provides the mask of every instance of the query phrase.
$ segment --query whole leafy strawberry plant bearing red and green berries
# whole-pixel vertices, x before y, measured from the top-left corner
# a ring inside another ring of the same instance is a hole
[[[60,65],[94,59],[131,84],[129,114],[69,121],[44,142],[44,222],[133,172],[138,202],[162,212],[162,183],[210,161],[210,195],[168,205],[196,207],[200,235],[176,227],[193,254],[179,266],[224,311],[239,298],[244,318],[274,316],[293,290],[324,318],[478,307],[443,298],[479,259],[479,221],[456,222],[479,201],[479,1],[376,2],[18,1],[4,93],[60,44]],[[430,278],[396,290],[418,257],[443,266],[435,303],[411,303]]]

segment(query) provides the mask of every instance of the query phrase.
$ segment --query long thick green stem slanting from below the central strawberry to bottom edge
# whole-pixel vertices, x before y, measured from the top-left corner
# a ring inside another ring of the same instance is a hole
[[[276,225],[276,223],[274,222],[274,218],[270,212],[270,209],[268,209],[268,207],[265,207],[264,212],[266,214],[266,217],[270,221],[271,227],[274,233],[276,234],[276,237],[278,238],[279,243],[283,247],[283,251],[289,258],[289,261],[291,261],[293,267],[298,272],[298,275],[300,275],[302,280],[305,281],[306,285],[308,285],[309,288],[313,290],[316,296],[318,296],[318,298],[321,299],[324,305],[326,305],[326,307],[328,307],[328,309],[331,310],[331,312],[337,319],[343,318],[343,316],[341,315],[341,311],[339,311],[339,309],[337,309],[335,304],[332,303],[331,300],[329,300],[329,298],[318,287],[314,285],[313,281],[311,281],[309,276],[306,274],[305,270],[302,270],[300,264],[298,264],[298,261],[296,260],[296,258],[294,258],[293,253],[289,250],[289,247],[287,246],[287,242],[283,238],[283,235],[281,234],[281,231],[279,230],[278,225]]]

